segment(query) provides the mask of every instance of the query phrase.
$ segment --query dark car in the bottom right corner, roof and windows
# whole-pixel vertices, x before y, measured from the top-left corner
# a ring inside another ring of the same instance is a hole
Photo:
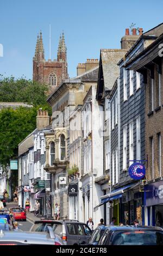
[[[163,245],[163,229],[110,226],[105,230],[98,245]]]

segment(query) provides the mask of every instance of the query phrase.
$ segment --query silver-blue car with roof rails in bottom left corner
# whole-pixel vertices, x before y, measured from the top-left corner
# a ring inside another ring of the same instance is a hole
[[[36,232],[10,232],[0,230],[0,245],[62,245],[58,235],[48,227],[47,233]]]

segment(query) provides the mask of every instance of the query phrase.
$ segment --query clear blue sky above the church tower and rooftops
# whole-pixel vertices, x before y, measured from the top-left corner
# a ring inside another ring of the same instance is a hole
[[[162,0],[1,0],[0,74],[32,79],[37,33],[42,31],[45,58],[57,59],[59,36],[65,33],[68,75],[76,76],[78,63],[98,58],[101,48],[120,48],[125,29],[149,29],[163,22]]]

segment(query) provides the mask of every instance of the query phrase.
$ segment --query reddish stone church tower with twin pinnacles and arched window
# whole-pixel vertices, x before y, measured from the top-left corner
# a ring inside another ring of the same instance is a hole
[[[40,36],[37,35],[35,57],[33,58],[33,80],[48,84],[51,88],[50,91],[53,91],[67,78],[67,49],[64,33],[59,39],[57,59],[46,61],[42,33],[40,32]]]

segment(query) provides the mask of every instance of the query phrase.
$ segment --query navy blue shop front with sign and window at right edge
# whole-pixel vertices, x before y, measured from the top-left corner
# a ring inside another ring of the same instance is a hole
[[[163,180],[145,186],[146,224],[163,227]]]

